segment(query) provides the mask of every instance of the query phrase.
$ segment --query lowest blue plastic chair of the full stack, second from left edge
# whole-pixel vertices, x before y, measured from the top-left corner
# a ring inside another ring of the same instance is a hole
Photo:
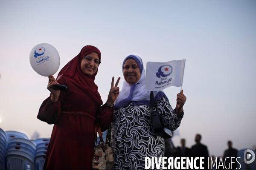
[[[21,150],[9,150],[6,152],[7,170],[35,170],[34,158]]]

